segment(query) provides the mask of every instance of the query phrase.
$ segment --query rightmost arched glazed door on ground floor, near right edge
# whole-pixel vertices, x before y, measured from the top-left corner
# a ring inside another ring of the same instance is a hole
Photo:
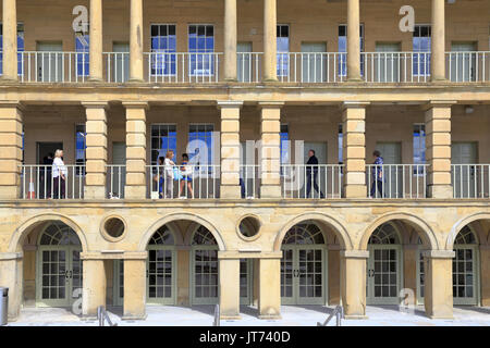
[[[454,240],[453,302],[478,304],[478,241],[476,234],[466,225]]]

